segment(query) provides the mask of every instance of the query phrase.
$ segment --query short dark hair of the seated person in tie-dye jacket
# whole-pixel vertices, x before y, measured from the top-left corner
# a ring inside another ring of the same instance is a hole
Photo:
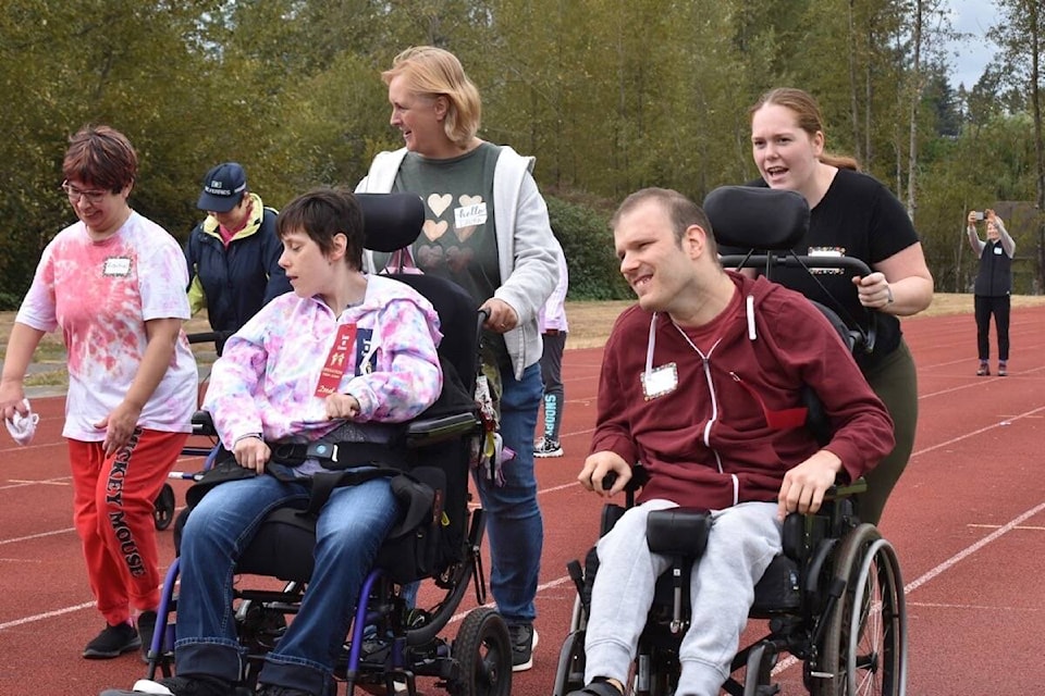
[[[362,268],[362,209],[356,197],[344,188],[323,186],[302,194],[280,211],[276,234],[283,239],[303,231],[327,254],[334,248],[334,236],[345,235],[345,260],[353,269]]]

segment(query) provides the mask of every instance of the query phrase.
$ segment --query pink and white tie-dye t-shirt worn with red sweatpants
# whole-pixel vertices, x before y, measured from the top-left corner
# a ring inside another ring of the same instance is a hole
[[[111,237],[95,241],[83,222],[51,240],[22,302],[17,322],[62,330],[69,352],[69,394],[62,435],[100,442],[95,427],[123,401],[148,345],[145,323],[188,319],[188,271],[177,241],[132,212]],[[197,371],[185,334],[138,425],[187,433],[196,410]]]

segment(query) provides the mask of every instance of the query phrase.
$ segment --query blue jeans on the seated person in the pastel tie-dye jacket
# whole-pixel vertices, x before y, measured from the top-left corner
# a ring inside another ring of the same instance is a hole
[[[239,679],[241,648],[232,609],[236,559],[275,508],[308,500],[307,482],[271,475],[231,481],[193,509],[182,536],[177,600],[177,673]],[[333,490],[316,524],[316,570],[259,681],[325,694],[334,659],[352,624],[359,588],[398,517],[388,478]]]

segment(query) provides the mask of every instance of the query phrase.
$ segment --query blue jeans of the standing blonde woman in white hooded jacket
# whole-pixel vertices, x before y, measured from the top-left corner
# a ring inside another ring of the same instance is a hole
[[[490,537],[490,592],[509,624],[530,623],[537,617],[533,598],[541,569],[544,522],[537,505],[533,472],[533,433],[544,388],[541,368],[532,364],[516,381],[503,372],[501,437],[515,450],[504,464],[504,485],[475,476],[479,499],[487,512]]]

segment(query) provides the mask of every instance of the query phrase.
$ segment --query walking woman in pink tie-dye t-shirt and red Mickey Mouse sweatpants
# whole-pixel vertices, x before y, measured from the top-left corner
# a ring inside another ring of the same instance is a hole
[[[131,142],[108,126],[70,140],[62,189],[78,221],[44,250],[8,344],[4,418],[24,413],[23,380],[44,334],[69,353],[65,426],[76,531],[106,626],[84,657],[137,649],[159,604],[152,500],[192,428],[196,363],[182,332],[188,273],[177,241],[131,209]]]

